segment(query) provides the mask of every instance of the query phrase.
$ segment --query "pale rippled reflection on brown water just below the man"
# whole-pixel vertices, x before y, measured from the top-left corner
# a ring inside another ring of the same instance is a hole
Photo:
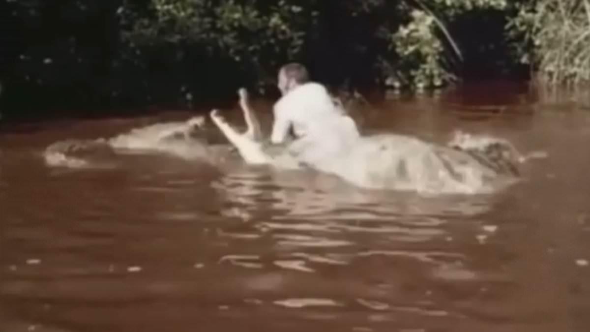
[[[494,203],[487,196],[363,191],[304,172],[275,176],[242,169],[222,175],[212,187],[224,201],[221,214],[246,223],[241,233],[224,231],[221,236],[264,237],[284,250],[355,247],[363,237],[373,243],[446,239],[453,218],[483,214]]]

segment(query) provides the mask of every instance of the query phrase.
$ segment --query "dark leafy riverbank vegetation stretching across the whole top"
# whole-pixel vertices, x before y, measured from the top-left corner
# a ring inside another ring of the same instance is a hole
[[[293,60],[345,89],[499,76],[580,86],[590,80],[589,2],[8,0],[0,107],[191,108],[238,86],[276,93],[278,66]]]

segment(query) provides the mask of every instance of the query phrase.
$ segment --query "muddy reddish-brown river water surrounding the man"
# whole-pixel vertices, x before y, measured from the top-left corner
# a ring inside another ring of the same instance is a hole
[[[365,132],[442,142],[461,129],[546,152],[484,196],[239,160],[41,157],[188,113],[5,126],[0,331],[589,331],[590,112],[572,105],[484,85],[357,114]]]

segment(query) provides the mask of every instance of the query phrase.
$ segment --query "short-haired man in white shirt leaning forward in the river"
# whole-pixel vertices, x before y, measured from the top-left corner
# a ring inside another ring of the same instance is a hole
[[[322,84],[310,82],[307,69],[289,63],[278,72],[281,99],[274,105],[273,144],[286,142],[292,131],[291,154],[304,163],[323,168],[360,137],[355,122],[332,99]],[[320,165],[321,164],[321,165]]]

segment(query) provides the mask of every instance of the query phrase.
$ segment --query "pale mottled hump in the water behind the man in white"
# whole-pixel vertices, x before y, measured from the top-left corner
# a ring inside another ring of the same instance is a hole
[[[412,136],[381,134],[364,136],[346,152],[320,158],[312,167],[363,188],[491,193],[517,180],[514,151],[510,142],[492,137],[462,135],[444,146]]]

